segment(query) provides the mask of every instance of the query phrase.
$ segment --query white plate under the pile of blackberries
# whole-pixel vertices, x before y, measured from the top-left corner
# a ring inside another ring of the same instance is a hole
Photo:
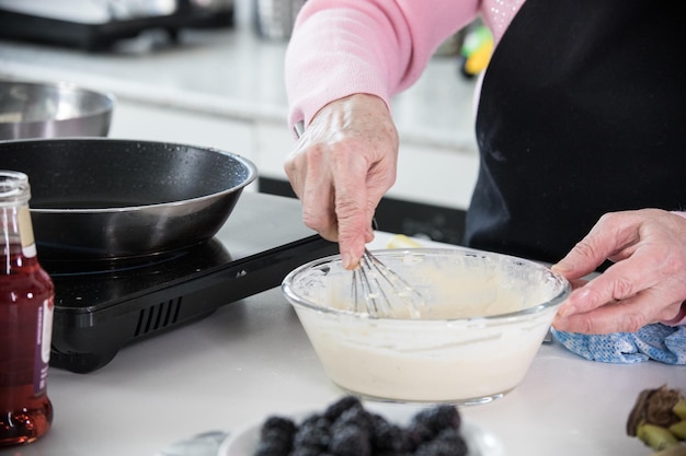
[[[418,411],[416,408],[373,410],[373,407],[369,407],[367,404],[365,404],[365,408],[386,417],[387,420],[402,425],[405,425]],[[297,413],[295,420],[296,422],[300,422],[302,418],[321,411],[322,410],[312,410],[309,413]],[[252,423],[237,430],[236,433],[231,433],[231,436],[224,441],[219,447],[217,456],[252,456],[260,441],[260,429],[263,422],[264,420],[261,420],[258,423]],[[469,448],[468,456],[505,455],[505,448],[500,439],[475,423],[462,420],[461,431],[462,437]]]

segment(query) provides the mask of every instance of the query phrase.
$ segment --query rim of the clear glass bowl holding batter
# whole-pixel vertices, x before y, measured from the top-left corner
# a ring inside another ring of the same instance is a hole
[[[282,293],[286,296],[286,299],[289,301],[289,303],[296,307],[300,306],[304,307],[306,309],[309,311],[315,311],[315,312],[319,312],[322,314],[328,314],[328,315],[336,315],[336,316],[341,316],[341,315],[345,315],[345,316],[351,316],[354,318],[358,318],[358,319],[369,319],[369,320],[375,320],[375,321],[439,321],[439,323],[478,323],[478,321],[493,321],[493,320],[510,320],[510,319],[516,319],[523,316],[528,316],[528,315],[533,315],[533,314],[538,314],[544,312],[545,309],[548,309],[550,307],[556,307],[560,304],[562,304],[562,302],[564,300],[567,300],[567,297],[570,295],[570,293],[572,292],[572,285],[570,283],[569,280],[567,280],[563,276],[553,272],[552,270],[550,270],[550,268],[548,266],[546,266],[545,262],[541,261],[536,261],[533,259],[527,259],[527,258],[522,258],[522,257],[516,257],[514,255],[507,255],[507,254],[501,254],[501,253],[496,253],[496,252],[490,252],[490,250],[482,250],[482,249],[477,249],[477,248],[470,248],[470,247],[464,247],[464,246],[455,246],[455,247],[412,247],[412,248],[385,248],[385,249],[373,249],[370,250],[375,256],[378,257],[384,257],[385,255],[396,255],[396,256],[404,256],[408,254],[415,254],[415,255],[455,255],[455,254],[461,254],[461,255],[471,255],[471,256],[488,256],[488,257],[495,257],[495,258],[500,258],[500,259],[504,259],[504,260],[510,260],[513,262],[519,262],[519,264],[525,264],[527,266],[531,266],[535,267],[537,269],[541,269],[545,270],[546,272],[548,272],[550,274],[550,277],[552,277],[553,279],[556,279],[557,281],[560,282],[561,284],[561,289],[560,292],[554,295],[553,297],[551,297],[550,300],[539,303],[539,304],[535,304],[531,305],[529,307],[519,309],[519,311],[515,311],[515,312],[507,312],[507,313],[503,313],[503,314],[494,314],[494,315],[483,315],[483,316],[473,316],[473,317],[458,317],[458,318],[412,318],[412,317],[404,317],[404,318],[389,318],[389,317],[379,317],[379,316],[374,316],[370,315],[368,313],[362,313],[362,312],[354,312],[354,311],[348,311],[348,309],[342,309],[342,308],[333,308],[333,307],[324,307],[321,306],[317,303],[313,303],[309,300],[302,299],[301,296],[299,296],[298,294],[295,293],[295,291],[293,290],[291,283],[295,279],[296,276],[298,276],[299,273],[304,272],[307,269],[311,269],[321,265],[325,265],[325,264],[331,264],[331,262],[340,262],[341,261],[341,255],[336,254],[336,255],[329,255],[327,257],[322,257],[322,258],[318,258],[311,261],[308,261],[299,267],[297,267],[296,269],[291,270],[282,281]],[[296,307],[297,309],[297,307]]]

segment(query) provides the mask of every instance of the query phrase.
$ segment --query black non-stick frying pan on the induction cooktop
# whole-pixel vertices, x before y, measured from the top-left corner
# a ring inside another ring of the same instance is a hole
[[[28,175],[41,259],[114,259],[216,234],[258,171],[215,149],[64,138],[0,141],[0,168]]]

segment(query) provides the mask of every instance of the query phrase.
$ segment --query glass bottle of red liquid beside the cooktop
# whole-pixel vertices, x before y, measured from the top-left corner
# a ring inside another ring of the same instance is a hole
[[[4,173],[0,172],[0,447],[33,442],[53,421],[46,388],[53,281],[35,256],[27,202],[14,207],[3,200]]]

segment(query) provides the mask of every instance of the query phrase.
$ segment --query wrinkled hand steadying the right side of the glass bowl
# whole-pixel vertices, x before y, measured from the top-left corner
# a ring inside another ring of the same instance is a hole
[[[581,281],[605,259],[614,265]],[[671,320],[686,300],[686,220],[658,209],[605,214],[552,270],[574,284],[556,329],[633,332]]]

